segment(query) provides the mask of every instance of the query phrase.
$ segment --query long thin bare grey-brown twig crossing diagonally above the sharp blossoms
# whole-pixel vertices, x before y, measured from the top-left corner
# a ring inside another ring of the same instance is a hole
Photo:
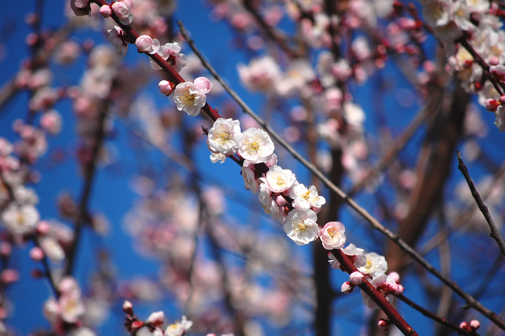
[[[338,197],[340,197],[343,202],[345,202],[352,210],[355,210],[360,216],[362,216],[373,229],[381,232],[387,238],[389,238],[394,244],[396,244],[402,251],[410,255],[416,262],[418,262],[423,268],[428,272],[435,275],[440,281],[445,285],[450,287],[453,292],[460,296],[465,302],[470,306],[481,312],[483,315],[487,316],[491,321],[496,323],[501,329],[505,330],[505,321],[503,321],[499,316],[496,315],[490,309],[484,307],[480,302],[475,300],[470,294],[465,292],[455,281],[452,281],[445,277],[440,271],[435,269],[426,259],[424,259],[418,252],[416,252],[409,244],[407,244],[403,239],[401,239],[397,234],[393,233],[391,230],[384,227],[375,217],[373,217],[367,210],[358,205],[353,199],[348,197],[342,189],[337,187],[329,178],[327,178],[314,164],[310,163],[307,159],[302,157],[296,150],[294,150],[285,140],[283,140],[279,134],[277,134],[270,125],[265,123],[256,113],[254,113],[245,102],[238,96],[238,94],[233,91],[219,76],[219,74],[214,70],[214,68],[205,60],[203,55],[196,49],[193,41],[189,38],[182,22],[178,21],[179,27],[181,29],[181,34],[186,39],[189,47],[193,53],[201,61],[202,65],[209,70],[209,72],[216,78],[216,80],[221,83],[223,88],[230,94],[231,98],[242,108],[242,111],[249,116],[251,116],[260,126],[262,126],[265,131],[267,131],[272,138],[274,138],[284,149],[293,156],[294,159],[299,161],[304,165],[311,173],[317,176],[324,185],[326,185],[331,191],[333,191]]]

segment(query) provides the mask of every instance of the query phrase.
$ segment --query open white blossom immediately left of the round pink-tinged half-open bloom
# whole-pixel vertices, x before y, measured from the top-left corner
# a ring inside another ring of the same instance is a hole
[[[283,225],[284,232],[296,245],[307,245],[319,235],[316,221],[316,213],[312,210],[291,210]]]

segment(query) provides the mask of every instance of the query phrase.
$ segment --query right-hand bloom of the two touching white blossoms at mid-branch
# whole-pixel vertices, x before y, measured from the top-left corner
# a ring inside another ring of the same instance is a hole
[[[252,163],[266,162],[274,153],[274,143],[270,136],[262,129],[248,128],[242,133],[242,146],[238,148],[238,154]]]

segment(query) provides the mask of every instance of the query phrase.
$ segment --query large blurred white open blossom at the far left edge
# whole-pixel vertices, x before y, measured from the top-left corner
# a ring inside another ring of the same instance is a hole
[[[35,231],[40,215],[32,205],[17,205],[11,203],[2,213],[4,226],[15,235],[23,235]]]

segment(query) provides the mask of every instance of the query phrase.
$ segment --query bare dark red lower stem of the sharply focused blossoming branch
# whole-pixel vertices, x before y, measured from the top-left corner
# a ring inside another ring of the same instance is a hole
[[[352,272],[358,272],[358,269],[354,265],[354,262],[347,257],[341,250],[331,250],[331,254],[340,263],[340,267],[351,274]],[[375,287],[366,279],[363,278],[363,283],[359,287],[377,304],[377,306],[382,309],[382,311],[389,317],[391,323],[396,325],[396,327],[404,335],[417,335],[418,333],[401,317],[401,315],[394,309],[393,305],[386,300],[384,295],[382,295]]]

